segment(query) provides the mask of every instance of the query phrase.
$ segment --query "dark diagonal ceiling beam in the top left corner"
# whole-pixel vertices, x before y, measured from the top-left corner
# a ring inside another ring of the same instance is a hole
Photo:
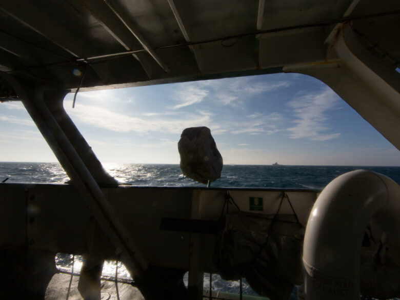
[[[51,16],[39,10],[34,2],[24,0],[3,1],[0,9],[74,57],[90,55],[87,43],[81,41],[76,35],[61,26],[59,22],[52,21]]]

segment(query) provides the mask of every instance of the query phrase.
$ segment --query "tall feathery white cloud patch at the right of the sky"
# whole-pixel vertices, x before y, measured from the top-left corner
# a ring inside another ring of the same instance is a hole
[[[338,105],[338,96],[329,88],[319,92],[296,97],[287,103],[293,110],[295,119],[289,128],[289,138],[309,138],[313,141],[327,141],[339,137],[340,133],[326,133],[329,110]]]

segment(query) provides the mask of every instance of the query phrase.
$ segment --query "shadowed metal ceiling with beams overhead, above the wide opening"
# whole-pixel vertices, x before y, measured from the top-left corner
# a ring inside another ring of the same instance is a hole
[[[393,69],[400,61],[393,0],[12,0],[0,4],[0,20],[0,71],[72,90],[324,62],[341,22]]]

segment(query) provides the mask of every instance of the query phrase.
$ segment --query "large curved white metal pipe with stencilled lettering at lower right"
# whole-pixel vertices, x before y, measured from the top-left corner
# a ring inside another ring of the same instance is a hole
[[[360,253],[367,224],[375,216],[391,236],[396,252],[400,221],[400,187],[390,178],[366,170],[335,178],[318,196],[308,219],[303,262],[307,300],[355,300],[360,295]],[[381,234],[377,236],[381,236]]]

